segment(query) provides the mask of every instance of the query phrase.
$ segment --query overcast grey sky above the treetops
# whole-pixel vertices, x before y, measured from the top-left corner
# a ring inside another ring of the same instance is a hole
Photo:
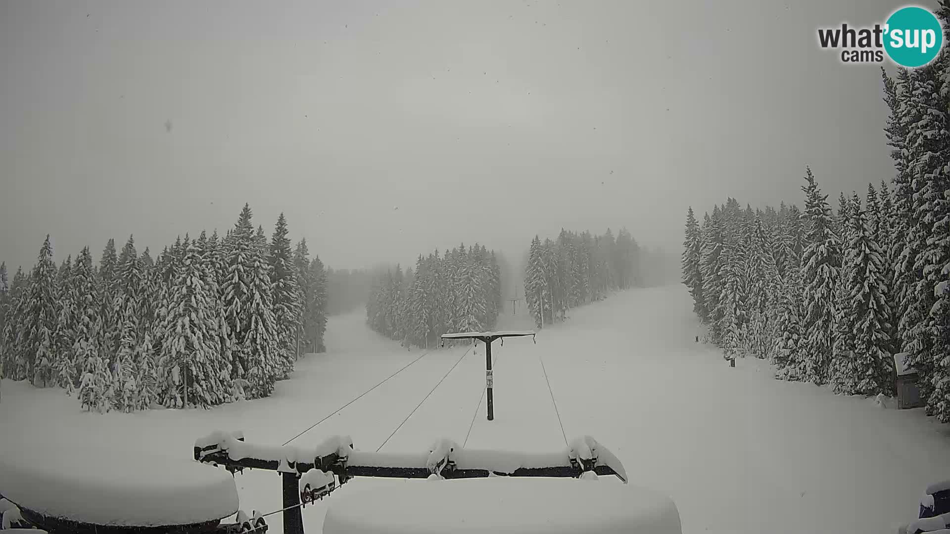
[[[677,246],[689,204],[801,203],[806,163],[832,200],[891,178],[879,69],[815,29],[901,5],[3,0],[0,260],[154,253],[245,201],[342,268]]]

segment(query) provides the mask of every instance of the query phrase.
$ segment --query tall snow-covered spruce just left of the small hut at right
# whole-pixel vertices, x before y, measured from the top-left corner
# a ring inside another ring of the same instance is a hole
[[[846,315],[853,326],[853,353],[840,365],[836,385],[843,386],[841,392],[849,394],[874,395],[891,394],[893,376],[891,369],[891,339],[887,324],[890,316],[886,298],[883,255],[881,247],[873,238],[870,221],[861,209],[861,200],[857,194],[851,201],[852,220],[849,232],[845,271],[847,278],[843,285],[848,288],[849,302]]]

